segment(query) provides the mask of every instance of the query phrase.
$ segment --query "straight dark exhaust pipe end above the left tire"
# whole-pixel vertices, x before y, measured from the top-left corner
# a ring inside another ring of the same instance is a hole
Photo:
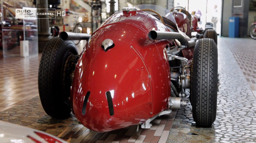
[[[60,32],[59,38],[61,40],[88,40],[91,37],[90,34],[86,33],[72,33],[72,32]]]

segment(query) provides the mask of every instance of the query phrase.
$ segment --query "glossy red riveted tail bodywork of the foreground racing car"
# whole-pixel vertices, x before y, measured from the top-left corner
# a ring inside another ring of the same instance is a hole
[[[152,41],[151,30],[168,31],[145,12],[116,13],[91,36],[76,65],[71,102],[76,118],[95,131],[111,131],[145,122],[167,109],[170,67],[165,47],[171,41]],[[101,47],[104,39],[115,46]],[[84,98],[90,91],[85,115]],[[110,116],[106,92],[110,91],[114,115]]]

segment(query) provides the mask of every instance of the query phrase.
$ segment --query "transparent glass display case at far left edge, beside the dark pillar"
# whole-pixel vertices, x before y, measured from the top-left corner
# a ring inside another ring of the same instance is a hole
[[[32,1],[1,0],[0,50],[2,50],[3,57],[20,56],[23,47],[26,47],[28,55],[38,55],[37,18],[15,18],[15,9],[25,7],[33,9]],[[23,45],[24,43],[26,45]]]

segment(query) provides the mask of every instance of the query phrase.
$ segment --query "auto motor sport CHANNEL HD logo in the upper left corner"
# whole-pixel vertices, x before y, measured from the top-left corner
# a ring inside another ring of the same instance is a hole
[[[65,12],[57,11],[56,9],[48,9],[48,12],[46,12],[46,9],[15,9],[15,18],[16,19],[46,19],[45,16],[48,16],[47,19],[55,19],[56,14],[57,16],[65,16]]]

